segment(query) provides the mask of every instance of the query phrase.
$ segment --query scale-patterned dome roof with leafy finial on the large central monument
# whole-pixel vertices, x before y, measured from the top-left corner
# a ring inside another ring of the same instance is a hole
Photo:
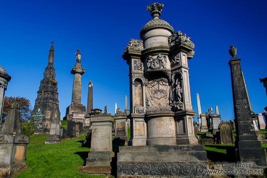
[[[172,33],[174,33],[174,29],[172,26],[166,22],[165,20],[159,19],[159,16],[161,15],[161,9],[163,8],[163,4],[154,3],[147,7],[147,10],[150,11],[151,16],[153,17],[153,20],[146,23],[146,25],[142,28],[140,32],[140,37],[142,38],[142,35],[144,31],[151,29],[151,28],[167,28]]]

